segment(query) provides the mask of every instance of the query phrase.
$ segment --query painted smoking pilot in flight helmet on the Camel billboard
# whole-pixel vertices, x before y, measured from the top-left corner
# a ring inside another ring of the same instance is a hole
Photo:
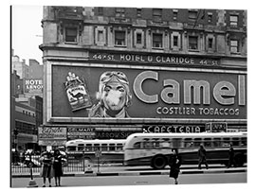
[[[104,72],[100,78],[97,98],[99,103],[92,107],[89,117],[129,117],[126,109],[131,105],[132,95],[124,73]]]

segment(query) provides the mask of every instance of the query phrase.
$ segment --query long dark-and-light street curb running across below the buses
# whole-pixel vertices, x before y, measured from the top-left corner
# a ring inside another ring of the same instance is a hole
[[[247,172],[247,169],[229,169],[229,170],[187,170],[180,171],[179,174],[214,174],[214,173],[239,173]],[[169,171],[154,172],[105,172],[105,173],[64,173],[63,177],[106,177],[106,176],[147,176],[147,175],[169,175]],[[40,178],[40,175],[33,175],[34,178]],[[12,175],[12,178],[30,178],[30,175]]]

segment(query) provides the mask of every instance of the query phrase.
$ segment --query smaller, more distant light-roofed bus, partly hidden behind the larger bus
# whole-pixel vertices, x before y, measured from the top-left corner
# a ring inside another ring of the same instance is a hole
[[[75,139],[65,143],[67,160],[96,163],[123,163],[124,139],[83,140]]]

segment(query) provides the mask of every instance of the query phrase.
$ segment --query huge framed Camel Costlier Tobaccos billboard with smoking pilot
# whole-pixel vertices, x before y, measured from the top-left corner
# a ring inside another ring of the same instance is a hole
[[[247,119],[246,72],[50,64],[53,118]]]

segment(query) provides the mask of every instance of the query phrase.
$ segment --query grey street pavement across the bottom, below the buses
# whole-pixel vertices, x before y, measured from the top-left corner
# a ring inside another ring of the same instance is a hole
[[[169,184],[169,171],[169,167],[155,170],[149,166],[93,166],[90,173],[64,172],[62,181],[64,186]],[[39,172],[32,174],[33,180],[29,172],[15,173],[11,176],[11,187],[42,186]],[[227,168],[211,165],[209,169],[182,166],[180,178],[183,178],[182,183],[247,183],[247,166]]]

